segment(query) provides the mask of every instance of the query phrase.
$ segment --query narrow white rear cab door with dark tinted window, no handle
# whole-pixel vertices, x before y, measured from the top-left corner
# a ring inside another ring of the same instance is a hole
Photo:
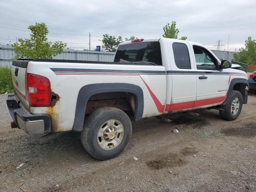
[[[167,75],[172,76],[172,99],[168,111],[190,110],[196,100],[196,73],[190,44],[173,39],[166,41],[171,63]]]

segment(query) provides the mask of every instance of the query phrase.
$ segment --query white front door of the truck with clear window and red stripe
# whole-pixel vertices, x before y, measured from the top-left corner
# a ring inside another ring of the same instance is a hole
[[[194,108],[216,106],[225,100],[229,74],[217,68],[218,59],[212,52],[199,44],[190,44],[197,71],[197,91]]]

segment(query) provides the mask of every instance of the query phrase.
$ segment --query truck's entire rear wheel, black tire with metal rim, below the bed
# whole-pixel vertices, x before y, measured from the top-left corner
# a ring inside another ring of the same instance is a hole
[[[132,124],[125,112],[113,107],[102,107],[86,118],[81,140],[91,156],[108,160],[126,148],[131,135]]]

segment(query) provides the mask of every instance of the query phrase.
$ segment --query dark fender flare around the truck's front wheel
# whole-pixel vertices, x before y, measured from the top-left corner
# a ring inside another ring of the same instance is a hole
[[[226,97],[226,100],[224,101],[223,105],[226,104],[227,98],[229,98],[232,90],[236,90],[241,92],[242,97],[243,97],[243,104],[247,103],[247,91],[246,91],[246,86],[249,86],[248,80],[244,78],[234,78],[231,80],[229,88],[228,88],[228,95]]]

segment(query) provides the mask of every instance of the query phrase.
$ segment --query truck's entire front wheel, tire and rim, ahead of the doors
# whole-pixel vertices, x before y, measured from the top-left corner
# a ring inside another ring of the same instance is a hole
[[[220,117],[228,121],[235,120],[242,110],[242,94],[239,91],[232,90],[230,96],[226,99],[226,105],[223,107],[223,110],[220,110]]]

